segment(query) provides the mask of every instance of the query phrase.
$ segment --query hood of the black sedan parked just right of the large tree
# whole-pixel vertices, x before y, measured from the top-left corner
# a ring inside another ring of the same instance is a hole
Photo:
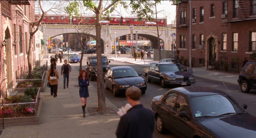
[[[138,77],[118,78],[118,79],[114,79],[114,81],[118,85],[135,85],[135,84],[145,83],[144,79],[139,76]]]

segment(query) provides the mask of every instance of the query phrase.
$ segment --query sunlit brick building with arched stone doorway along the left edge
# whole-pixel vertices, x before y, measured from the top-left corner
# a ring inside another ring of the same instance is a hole
[[[34,1],[0,1],[0,91],[7,96],[6,88],[15,88],[16,79],[28,71],[27,53],[31,32],[30,23],[35,19]],[[35,39],[32,42],[35,45]],[[35,61],[35,47],[32,47]]]

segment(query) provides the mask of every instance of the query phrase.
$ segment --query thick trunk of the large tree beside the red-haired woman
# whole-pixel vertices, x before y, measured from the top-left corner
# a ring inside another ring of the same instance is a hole
[[[96,11],[96,48],[97,48],[97,93],[98,93],[98,110],[100,114],[104,114],[106,110],[106,98],[104,95],[104,76],[101,59],[101,13]]]

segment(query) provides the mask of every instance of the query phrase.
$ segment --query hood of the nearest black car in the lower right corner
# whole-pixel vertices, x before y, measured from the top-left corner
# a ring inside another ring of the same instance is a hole
[[[256,117],[244,113],[226,117],[206,118],[199,123],[219,137],[255,137]]]

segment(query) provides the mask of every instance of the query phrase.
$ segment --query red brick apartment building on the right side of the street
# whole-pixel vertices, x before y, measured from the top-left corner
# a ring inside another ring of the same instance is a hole
[[[201,64],[213,65],[224,59],[238,61],[255,52],[256,1],[189,1],[176,5],[176,50],[189,59],[191,27],[191,57]]]

